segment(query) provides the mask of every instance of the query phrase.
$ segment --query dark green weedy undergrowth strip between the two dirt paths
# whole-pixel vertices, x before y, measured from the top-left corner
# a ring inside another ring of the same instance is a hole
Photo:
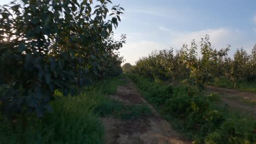
[[[254,120],[217,105],[218,95],[205,95],[193,86],[162,85],[136,74],[129,77],[161,116],[194,143],[255,143]]]

